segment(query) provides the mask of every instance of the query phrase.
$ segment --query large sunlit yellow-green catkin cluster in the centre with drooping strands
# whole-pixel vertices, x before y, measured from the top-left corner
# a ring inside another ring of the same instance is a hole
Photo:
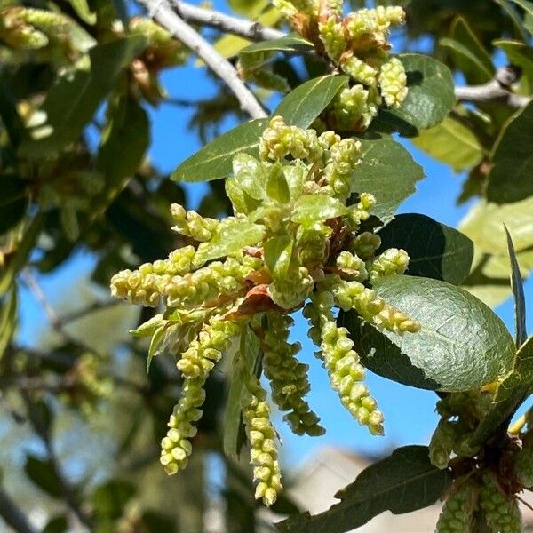
[[[354,309],[376,328],[398,334],[419,326],[371,289],[380,278],[402,274],[409,258],[396,249],[376,253],[379,237],[368,229],[373,225],[365,228],[375,198],[353,196],[360,150],[355,139],[333,131],[318,135],[274,116],[260,139],[259,159],[234,158],[226,190],[235,216],[205,219],[172,205],[174,229],[197,244],[111,280],[117,298],[166,307],[139,331],[153,335],[151,352],[164,341],[183,377],[162,442],[168,473],[187,465],[209,373],[239,345],[233,341],[251,331],[259,338],[262,372],[284,420],[296,434],[323,433],[304,400],[310,384],[307,365],[297,358],[300,345],[289,341],[290,314],[300,309],[343,405],[372,434],[383,433],[383,415],[363,383],[365,369],[353,341],[336,323],[336,309]],[[351,196],[354,203],[346,205]],[[243,375],[238,357],[233,371],[242,372],[247,391],[242,413],[256,497],[272,505],[282,484],[267,392],[257,374]]]

